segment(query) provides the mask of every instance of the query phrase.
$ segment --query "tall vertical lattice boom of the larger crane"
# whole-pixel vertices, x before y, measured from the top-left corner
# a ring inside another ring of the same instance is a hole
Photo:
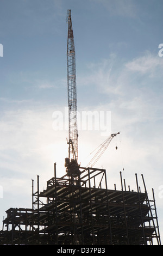
[[[67,92],[68,92],[68,159],[78,162],[76,54],[74,47],[71,10],[67,10]]]

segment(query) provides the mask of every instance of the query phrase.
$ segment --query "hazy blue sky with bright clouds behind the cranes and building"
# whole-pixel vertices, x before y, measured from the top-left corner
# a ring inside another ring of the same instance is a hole
[[[162,234],[162,8],[162,0],[1,0],[0,221],[10,207],[31,206],[36,175],[46,187],[54,162],[65,173],[67,130],[54,131],[52,116],[67,106],[71,9],[78,111],[111,111],[111,132],[121,131],[99,167],[108,170],[111,189],[122,167],[133,187],[135,173],[143,173]],[[104,139],[101,131],[79,131],[83,166]]]

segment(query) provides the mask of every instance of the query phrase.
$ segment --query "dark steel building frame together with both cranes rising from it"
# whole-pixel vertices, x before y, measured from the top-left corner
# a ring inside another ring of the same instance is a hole
[[[112,134],[101,145],[88,167],[78,164],[76,66],[71,11],[67,11],[68,157],[65,175],[47,181],[36,191],[32,180],[32,208],[10,208],[0,231],[0,245],[161,245],[158,216],[153,198],[148,198],[142,175],[143,192],[126,187],[120,172],[121,190],[109,190],[106,170],[93,164],[103,154]]]

